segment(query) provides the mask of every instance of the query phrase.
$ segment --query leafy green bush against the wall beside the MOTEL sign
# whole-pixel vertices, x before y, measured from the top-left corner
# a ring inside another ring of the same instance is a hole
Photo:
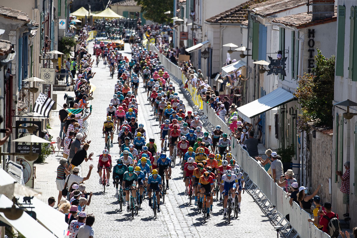
[[[310,131],[308,122],[316,126],[332,127],[332,101],[335,83],[335,56],[325,58],[317,49],[316,67],[311,74],[299,76],[298,87],[294,95],[300,104],[297,126],[301,131]]]

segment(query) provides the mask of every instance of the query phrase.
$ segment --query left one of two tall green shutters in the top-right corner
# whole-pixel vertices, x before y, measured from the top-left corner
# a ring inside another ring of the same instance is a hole
[[[336,52],[336,76],[343,76],[343,60],[345,57],[345,21],[346,7],[337,7],[337,52]]]

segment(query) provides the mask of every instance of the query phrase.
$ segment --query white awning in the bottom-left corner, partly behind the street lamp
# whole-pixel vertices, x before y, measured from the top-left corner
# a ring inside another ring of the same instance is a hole
[[[7,198],[4,194],[0,194],[0,207],[7,208],[11,206],[12,206],[12,201],[9,198]],[[26,238],[38,238],[38,237],[56,238],[54,234],[52,234],[49,230],[43,227],[40,223],[38,223],[34,218],[32,218],[26,212],[22,213],[21,217],[16,220],[7,219],[4,213],[0,212],[0,221],[5,222],[6,224],[9,224],[10,226],[14,227]],[[64,234],[62,233],[60,237],[61,238],[64,237]]]

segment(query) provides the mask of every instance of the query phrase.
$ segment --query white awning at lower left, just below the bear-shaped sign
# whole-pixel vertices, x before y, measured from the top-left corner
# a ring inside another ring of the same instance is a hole
[[[19,201],[22,201],[23,197],[20,197]],[[65,214],[58,210],[48,206],[44,202],[41,202],[38,198],[31,199],[32,211],[36,212],[36,219],[44,227],[49,229],[55,236],[64,237],[65,231],[68,228],[68,224],[65,222]],[[31,208],[27,209],[31,211]]]

